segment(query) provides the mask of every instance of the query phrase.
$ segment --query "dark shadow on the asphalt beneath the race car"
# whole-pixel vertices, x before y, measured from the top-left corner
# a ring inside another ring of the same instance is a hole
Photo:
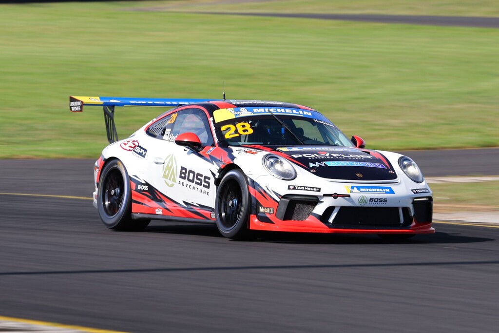
[[[168,223],[150,225],[143,232],[180,234],[199,237],[223,238],[212,224]],[[493,238],[467,236],[461,233],[436,232],[416,235],[407,240],[385,240],[375,234],[314,234],[291,232],[254,232],[246,242],[292,243],[292,244],[459,244],[495,241]],[[232,242],[241,242],[228,240]]]

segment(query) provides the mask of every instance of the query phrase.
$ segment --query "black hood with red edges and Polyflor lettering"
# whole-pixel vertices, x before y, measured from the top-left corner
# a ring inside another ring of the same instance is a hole
[[[351,147],[280,147],[277,152],[314,175],[348,181],[395,180],[388,159],[375,150]]]

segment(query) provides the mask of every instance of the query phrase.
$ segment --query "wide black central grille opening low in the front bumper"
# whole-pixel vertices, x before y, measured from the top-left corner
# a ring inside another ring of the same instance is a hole
[[[400,223],[398,207],[341,207],[333,220],[333,227],[381,229],[407,227],[412,223],[409,208],[402,208]]]

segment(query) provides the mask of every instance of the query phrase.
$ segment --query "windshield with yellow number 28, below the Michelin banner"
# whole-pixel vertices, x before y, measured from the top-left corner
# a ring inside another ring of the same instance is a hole
[[[217,127],[222,132],[223,140],[231,146],[260,144],[353,147],[352,142],[332,123],[308,117],[251,115],[218,122]]]

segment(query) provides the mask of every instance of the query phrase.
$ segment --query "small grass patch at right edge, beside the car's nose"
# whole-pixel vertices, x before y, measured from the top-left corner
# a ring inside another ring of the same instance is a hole
[[[498,181],[430,184],[430,187],[437,211],[445,210],[448,205],[461,207],[463,211],[483,210],[484,207],[499,210]]]

